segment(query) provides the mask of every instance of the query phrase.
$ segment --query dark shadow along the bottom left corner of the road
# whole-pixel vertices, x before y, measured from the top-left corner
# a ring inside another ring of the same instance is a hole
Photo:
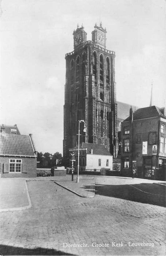
[[[47,248],[22,248],[8,245],[0,245],[0,255],[74,255],[70,253],[65,253],[55,249]]]

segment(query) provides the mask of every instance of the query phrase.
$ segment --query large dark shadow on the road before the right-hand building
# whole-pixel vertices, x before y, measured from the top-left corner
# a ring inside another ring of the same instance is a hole
[[[96,195],[117,197],[139,203],[166,207],[166,187],[157,184],[103,185],[96,184]],[[140,190],[139,190],[140,189]]]

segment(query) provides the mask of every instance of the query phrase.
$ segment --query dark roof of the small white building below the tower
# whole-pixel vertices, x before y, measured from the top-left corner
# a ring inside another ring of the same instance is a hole
[[[100,144],[82,142],[80,145],[80,150],[82,148],[87,148],[87,154],[91,154],[91,149],[93,149],[93,155],[111,155],[108,149],[104,145]],[[78,146],[74,147],[73,150],[78,150]]]

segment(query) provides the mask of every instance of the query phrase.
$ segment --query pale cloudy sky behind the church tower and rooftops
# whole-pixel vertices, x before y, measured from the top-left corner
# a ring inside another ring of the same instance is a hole
[[[62,153],[65,54],[83,23],[102,22],[116,53],[117,101],[162,107],[166,95],[164,0],[1,0],[0,124],[33,134],[37,151]]]

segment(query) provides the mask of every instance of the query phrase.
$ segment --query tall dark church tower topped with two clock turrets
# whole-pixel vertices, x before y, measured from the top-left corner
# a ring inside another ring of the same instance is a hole
[[[74,51],[67,53],[64,105],[63,157],[78,143],[104,144],[113,157],[118,150],[115,52],[107,50],[106,29],[94,26],[92,41],[86,41],[84,27],[73,32]]]

